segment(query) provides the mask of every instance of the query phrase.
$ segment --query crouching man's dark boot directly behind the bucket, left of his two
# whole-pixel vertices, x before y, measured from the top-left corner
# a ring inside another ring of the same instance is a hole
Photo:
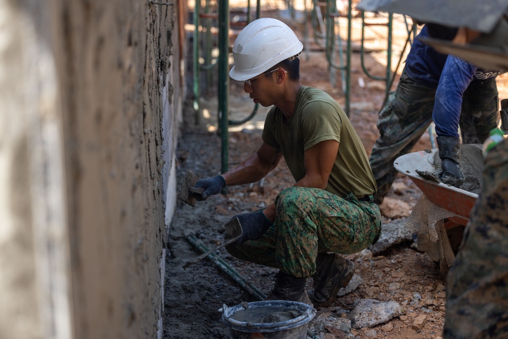
[[[295,278],[292,275],[278,272],[275,275],[275,286],[266,300],[290,300],[306,303],[312,302],[305,291],[305,278]]]

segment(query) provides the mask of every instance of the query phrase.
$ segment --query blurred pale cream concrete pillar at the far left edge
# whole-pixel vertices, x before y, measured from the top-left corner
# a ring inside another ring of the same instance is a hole
[[[0,0],[0,337],[70,338],[51,7]],[[44,24],[45,23],[45,24]]]

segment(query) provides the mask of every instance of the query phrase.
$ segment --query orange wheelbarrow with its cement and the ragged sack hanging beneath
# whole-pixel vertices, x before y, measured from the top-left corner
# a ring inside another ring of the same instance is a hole
[[[483,169],[481,145],[463,144],[461,149],[465,155],[460,160],[462,169],[465,170],[464,176],[470,182],[477,180],[479,191]],[[406,227],[416,231],[418,249],[426,252],[434,261],[438,261],[442,275],[446,276],[455,260],[464,228],[478,194],[448,186],[424,175],[440,169],[437,153],[438,149],[408,153],[397,158],[394,167],[415,182],[423,193],[407,218]],[[474,160],[474,165],[467,164],[469,160]],[[464,186],[468,189],[472,187],[470,184]]]

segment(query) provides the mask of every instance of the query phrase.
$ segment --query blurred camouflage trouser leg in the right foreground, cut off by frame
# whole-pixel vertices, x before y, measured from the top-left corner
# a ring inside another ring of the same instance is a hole
[[[488,153],[483,187],[448,273],[443,339],[508,338],[508,140]]]

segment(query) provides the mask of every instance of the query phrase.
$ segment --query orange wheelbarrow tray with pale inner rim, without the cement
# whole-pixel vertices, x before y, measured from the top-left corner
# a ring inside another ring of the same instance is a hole
[[[426,179],[416,172],[416,170],[434,172],[436,170],[434,165],[436,152],[438,149],[408,153],[397,158],[394,167],[411,178],[432,203],[456,214],[456,217],[449,218],[447,229],[457,225],[465,226],[469,221],[469,213],[478,194]]]

